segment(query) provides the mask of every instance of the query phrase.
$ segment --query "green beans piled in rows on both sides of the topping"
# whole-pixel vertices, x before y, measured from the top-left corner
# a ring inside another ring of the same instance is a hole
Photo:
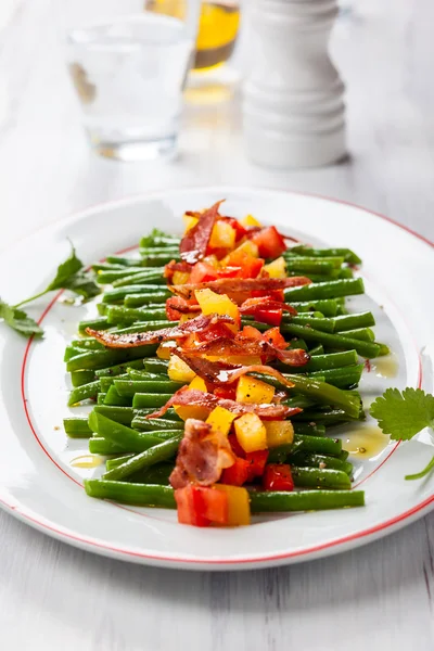
[[[293,419],[292,444],[269,450],[269,463],[290,463],[297,492],[251,492],[252,512],[332,509],[363,505],[362,492],[350,492],[353,464],[342,442],[329,427],[363,417],[358,386],[363,370],[359,356],[388,352],[374,341],[371,312],[347,314],[345,297],[362,294],[363,282],[348,265],[360,259],[346,248],[295,246],[283,254],[289,275],[308,276],[309,285],[284,291],[297,316],[283,314],[281,332],[292,347],[310,354],[304,367],[275,361],[294,387],[276,378],[253,373],[286,393],[284,404],[301,406]],[[86,329],[115,333],[146,332],[175,323],[166,316],[170,296],[164,266],[179,259],[179,239],[154,231],[140,241],[132,257],[108,256],[93,265],[103,285],[99,316],[78,324],[65,352],[72,391],[68,405],[93,403],[90,416],[67,417],[71,438],[87,438],[89,451],[106,456],[101,478],[87,480],[89,496],[129,505],[175,508],[169,475],[175,465],[183,421],[169,409],[161,419],[149,414],[165,405],[183,384],[168,378],[168,361],[155,356],[157,346],[111,349],[86,335]],[[260,331],[269,326],[243,317]],[[288,372],[291,371],[291,372]],[[298,490],[301,489],[301,490]]]

